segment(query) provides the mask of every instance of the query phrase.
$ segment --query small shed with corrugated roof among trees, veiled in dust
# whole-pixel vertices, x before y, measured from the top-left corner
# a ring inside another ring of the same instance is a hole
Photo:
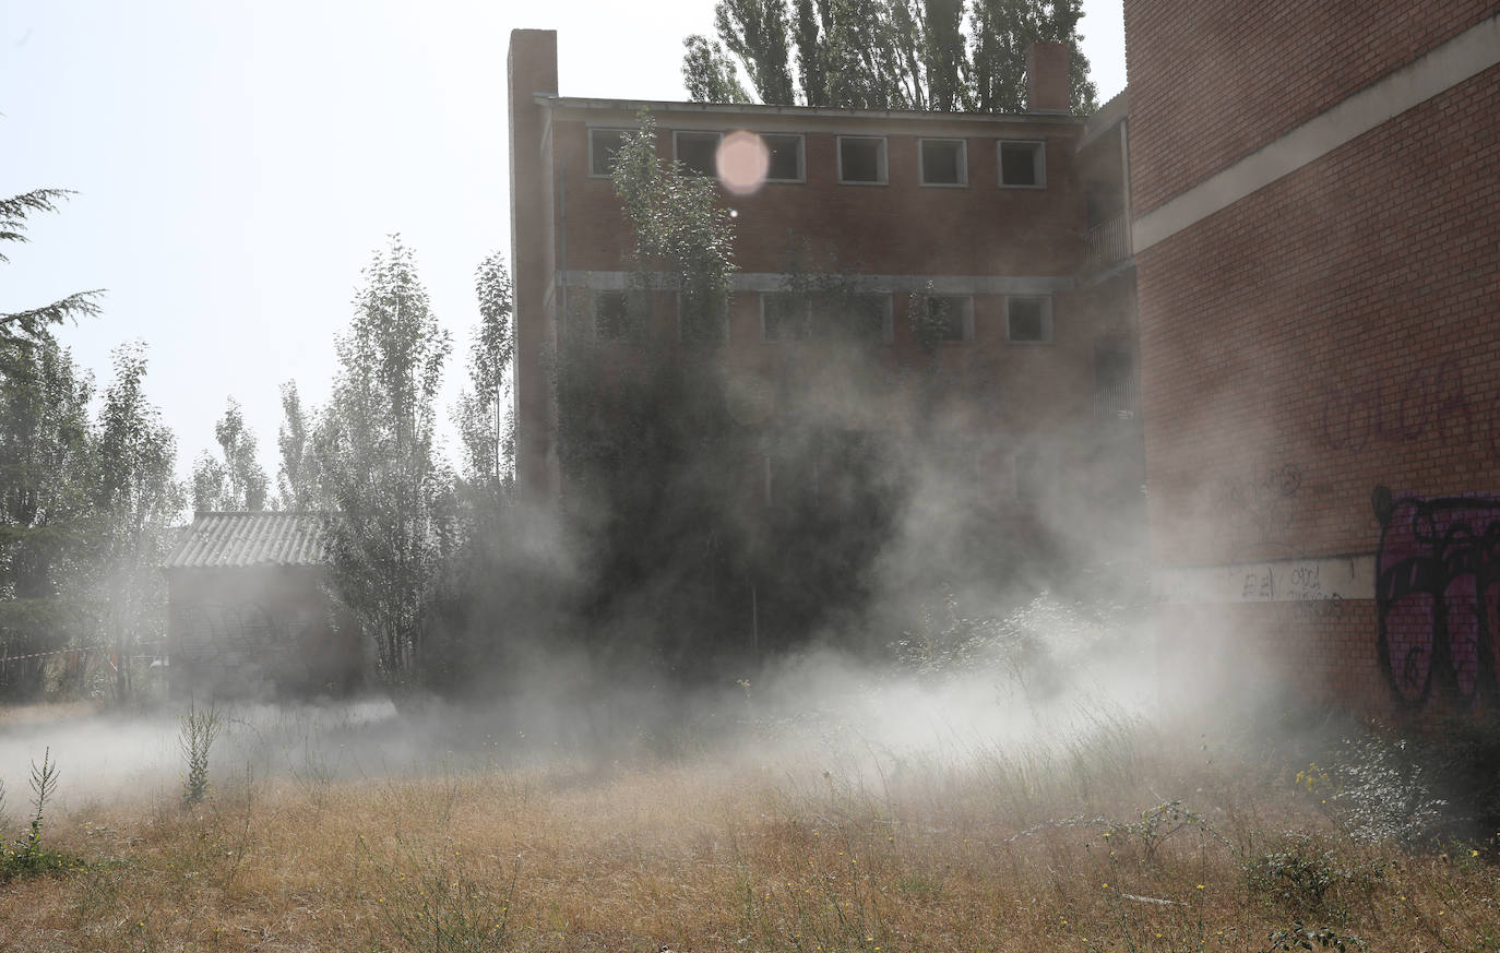
[[[340,695],[364,672],[321,513],[196,513],[162,563],[174,696]]]

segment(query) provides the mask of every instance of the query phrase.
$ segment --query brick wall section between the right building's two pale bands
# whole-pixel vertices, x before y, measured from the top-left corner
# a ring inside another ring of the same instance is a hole
[[[1148,249],[1138,279],[1158,564],[1371,552],[1377,483],[1500,492],[1500,69]],[[1294,494],[1258,501],[1281,512],[1236,504],[1287,465]]]

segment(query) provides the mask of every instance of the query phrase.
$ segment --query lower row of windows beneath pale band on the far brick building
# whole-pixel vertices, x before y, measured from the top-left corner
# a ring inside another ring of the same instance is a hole
[[[927,327],[939,341],[974,339],[974,299],[960,294],[926,296],[921,308]],[[822,296],[813,308],[813,296],[795,291],[760,293],[760,339],[894,339],[891,296],[882,293],[852,293]],[[642,324],[644,305],[627,291],[597,291],[594,294],[594,335],[622,341],[636,335]],[[724,318],[728,326],[728,315]],[[724,329],[728,330],[728,329]],[[720,335],[723,336],[723,335]],[[1005,299],[1006,344],[1052,344],[1052,299],[1008,296]]]

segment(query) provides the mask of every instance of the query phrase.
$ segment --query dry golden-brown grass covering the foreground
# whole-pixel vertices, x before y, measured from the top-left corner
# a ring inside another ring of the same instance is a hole
[[[1478,845],[1359,843],[1284,767],[1140,725],[942,761],[746,750],[76,806],[46,837],[88,866],[0,885],[0,950],[1245,951],[1293,920],[1371,950],[1500,939]],[[1268,873],[1276,852],[1328,882]]]

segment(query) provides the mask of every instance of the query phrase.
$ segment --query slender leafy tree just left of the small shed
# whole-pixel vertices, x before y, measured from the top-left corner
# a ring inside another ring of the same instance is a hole
[[[165,605],[158,564],[183,507],[172,476],[177,441],[146,399],[146,345],[114,351],[114,377],[94,423],[90,479],[92,527],[98,546],[93,579],[100,632],[114,645],[116,698],[130,692],[126,657],[141,635],[162,630]]]

